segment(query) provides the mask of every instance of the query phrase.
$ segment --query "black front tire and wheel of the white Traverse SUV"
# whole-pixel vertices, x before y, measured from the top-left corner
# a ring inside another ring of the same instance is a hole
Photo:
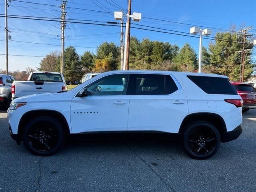
[[[65,134],[56,119],[39,116],[26,124],[23,131],[25,147],[38,156],[50,156],[63,147]]]

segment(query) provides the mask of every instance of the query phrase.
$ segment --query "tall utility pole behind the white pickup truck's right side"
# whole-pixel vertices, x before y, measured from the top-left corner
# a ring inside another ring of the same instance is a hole
[[[65,40],[65,17],[66,17],[66,4],[67,0],[62,0],[62,5],[61,5],[61,64],[60,64],[60,72],[63,74],[64,72],[64,40]]]

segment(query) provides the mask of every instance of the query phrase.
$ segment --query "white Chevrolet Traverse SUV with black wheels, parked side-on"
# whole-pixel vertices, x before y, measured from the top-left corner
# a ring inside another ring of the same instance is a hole
[[[111,71],[70,91],[17,98],[7,113],[12,138],[40,156],[57,152],[66,136],[125,133],[180,136],[189,156],[206,159],[242,133],[242,105],[226,76]]]

